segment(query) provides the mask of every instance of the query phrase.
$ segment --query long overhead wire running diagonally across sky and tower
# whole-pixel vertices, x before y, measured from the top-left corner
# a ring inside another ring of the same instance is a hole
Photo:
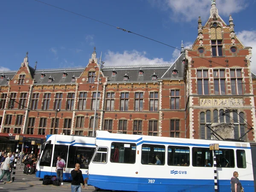
[[[96,21],[96,22],[99,22],[99,23],[102,23],[102,24],[105,24],[105,25],[108,25],[108,26],[111,26],[111,27],[115,27],[116,29],[120,29],[120,30],[122,30],[122,31],[124,31],[124,32],[133,33],[134,35],[138,35],[138,36],[140,36],[140,37],[142,37],[142,38],[146,38],[146,39],[148,39],[148,40],[155,41],[155,42],[157,42],[157,43],[159,43],[159,44],[163,44],[163,45],[166,45],[166,46],[168,46],[168,47],[172,47],[172,48],[174,48],[174,49],[177,49],[177,50],[180,50],[180,51],[181,51],[181,49],[179,49],[179,48],[177,48],[177,47],[171,46],[171,45],[166,44],[166,43],[163,43],[163,42],[161,42],[161,41],[154,40],[154,39],[152,39],[152,38],[148,38],[148,37],[146,37],[146,36],[144,36],[144,35],[140,35],[140,34],[138,34],[138,33],[132,32],[132,31],[130,31],[130,30],[126,30],[126,29],[123,29],[123,28],[121,28],[121,27],[114,26],[114,25],[112,25],[112,24],[109,24],[109,23],[106,23],[106,22],[102,22],[102,21],[100,21],[100,20],[96,20],[96,19],[93,19],[93,18],[91,18],[91,17],[87,17],[87,16],[85,16],[85,15],[81,15],[81,14],[79,14],[79,13],[72,12],[72,11],[70,11],[70,10],[63,9],[63,8],[61,8],[61,7],[54,6],[54,5],[49,4],[49,3],[45,3],[45,2],[40,1],[40,0],[35,0],[35,1],[37,1],[37,2],[39,2],[39,3],[43,3],[43,4],[48,5],[48,6],[52,6],[52,7],[56,8],[56,9],[61,9],[61,10],[66,11],[66,12],[70,12],[70,13],[72,13],[72,14],[79,15],[79,16],[81,16],[81,17],[85,17],[85,18],[87,18],[87,19],[90,19],[90,20],[93,20],[93,21]],[[224,64],[217,63],[217,62],[215,62],[215,61],[212,61],[212,60],[209,60],[209,59],[207,59],[207,58],[201,57],[201,56],[199,56],[199,55],[193,54],[193,53],[191,53],[191,52],[189,52],[189,54],[190,54],[190,55],[194,55],[194,56],[196,56],[196,57],[198,57],[198,58],[202,58],[202,59],[204,59],[204,60],[206,60],[206,61],[210,61],[211,63],[215,63],[215,64],[218,64],[218,65],[220,65],[220,66],[222,66],[222,67],[227,68],[227,66],[225,66]],[[228,67],[228,68],[230,68],[230,67]],[[250,75],[250,74],[247,74],[247,73],[244,73],[244,72],[241,72],[241,73],[243,73],[244,75],[253,77],[253,76]]]

